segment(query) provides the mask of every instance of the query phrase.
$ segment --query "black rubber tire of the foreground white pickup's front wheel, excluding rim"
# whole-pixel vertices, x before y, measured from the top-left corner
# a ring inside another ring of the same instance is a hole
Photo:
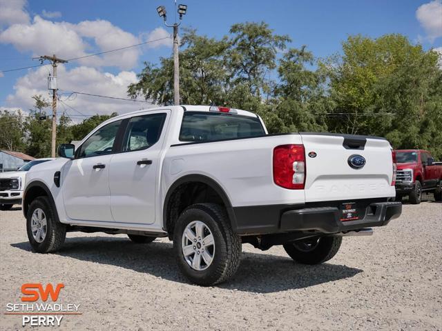
[[[32,214],[40,208],[46,215],[46,237],[39,243],[32,235]],[[32,250],[39,253],[49,253],[59,250],[66,239],[66,225],[60,223],[57,212],[51,207],[48,197],[38,197],[30,203],[26,215],[26,230]]]

